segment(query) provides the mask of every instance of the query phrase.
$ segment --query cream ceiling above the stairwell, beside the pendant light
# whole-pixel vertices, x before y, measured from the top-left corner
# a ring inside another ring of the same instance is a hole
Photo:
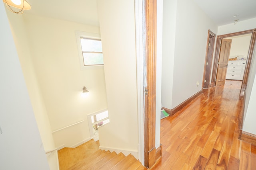
[[[27,0],[24,13],[99,26],[97,0]]]

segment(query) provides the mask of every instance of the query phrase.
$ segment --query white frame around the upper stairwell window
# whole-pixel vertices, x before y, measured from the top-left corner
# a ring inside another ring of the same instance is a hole
[[[86,39],[95,39],[95,40],[100,40],[101,37],[100,34],[98,33],[88,33],[88,32],[82,32],[82,31],[76,31],[76,42],[78,46],[78,56],[79,56],[79,61],[80,61],[80,68],[82,70],[85,69],[102,69],[104,68],[104,64],[95,64],[95,65],[84,65],[84,56],[82,52],[82,45],[81,45],[81,38],[86,38]]]

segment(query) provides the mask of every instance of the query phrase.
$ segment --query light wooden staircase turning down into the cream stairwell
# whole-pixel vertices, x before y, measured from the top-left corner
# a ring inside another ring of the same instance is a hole
[[[60,170],[147,170],[132,154],[125,156],[122,152],[116,154],[84,146],[59,150]]]

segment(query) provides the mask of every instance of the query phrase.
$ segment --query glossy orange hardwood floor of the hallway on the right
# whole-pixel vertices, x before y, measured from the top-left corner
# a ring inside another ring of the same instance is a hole
[[[256,146],[238,139],[241,85],[228,80],[162,119],[162,160],[152,170],[256,170]]]

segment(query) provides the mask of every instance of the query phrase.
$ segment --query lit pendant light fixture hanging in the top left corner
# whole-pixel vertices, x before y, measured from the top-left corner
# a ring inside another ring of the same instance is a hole
[[[8,10],[16,14],[23,14],[24,10],[30,10],[31,6],[26,0],[3,0]],[[18,10],[14,10],[16,8]]]

